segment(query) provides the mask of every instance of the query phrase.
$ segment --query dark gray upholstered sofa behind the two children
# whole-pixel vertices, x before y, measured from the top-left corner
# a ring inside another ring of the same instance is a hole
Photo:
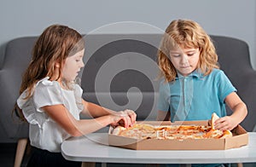
[[[19,95],[21,74],[31,58],[37,37],[10,41],[0,62],[0,142],[28,137],[28,126],[11,111]],[[114,110],[131,108],[138,120],[154,120],[158,98],[158,66],[155,62],[160,34],[100,34],[85,36],[83,97]],[[247,118],[241,125],[252,131],[256,120],[256,72],[250,64],[247,43],[232,37],[212,36],[221,69],[246,102]],[[228,111],[230,112],[230,111]]]

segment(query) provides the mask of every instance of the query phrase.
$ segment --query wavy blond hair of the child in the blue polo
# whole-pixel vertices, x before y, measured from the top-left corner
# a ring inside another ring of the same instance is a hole
[[[173,81],[177,76],[169,56],[170,49],[177,46],[200,50],[197,69],[201,69],[204,75],[211,73],[213,68],[218,68],[218,55],[212,39],[202,27],[193,20],[173,20],[167,26],[158,50],[160,76],[164,76],[167,82]]]

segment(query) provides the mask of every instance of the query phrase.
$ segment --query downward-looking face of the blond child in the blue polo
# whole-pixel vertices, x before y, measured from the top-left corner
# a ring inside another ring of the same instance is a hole
[[[170,50],[170,58],[173,66],[184,77],[195,71],[199,55],[199,49],[174,48]]]

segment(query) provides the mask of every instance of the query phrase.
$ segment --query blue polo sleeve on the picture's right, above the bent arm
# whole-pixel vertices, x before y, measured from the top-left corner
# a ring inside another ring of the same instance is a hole
[[[236,92],[236,88],[230,82],[230,79],[224,74],[223,71],[218,72],[218,97],[219,101],[224,101],[227,95]]]

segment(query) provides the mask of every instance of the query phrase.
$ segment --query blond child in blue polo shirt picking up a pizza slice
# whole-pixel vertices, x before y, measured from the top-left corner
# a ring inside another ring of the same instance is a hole
[[[216,129],[232,130],[247,107],[223,71],[211,38],[193,20],[173,20],[158,52],[160,83],[158,120],[207,120],[218,114]],[[232,110],[226,115],[225,104]],[[215,166],[219,164],[209,164]]]

